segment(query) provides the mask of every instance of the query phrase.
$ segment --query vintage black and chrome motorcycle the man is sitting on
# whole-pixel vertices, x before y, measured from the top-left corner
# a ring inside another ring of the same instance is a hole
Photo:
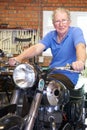
[[[71,68],[17,65],[13,71],[15,90],[9,110],[0,118],[0,130],[85,130],[84,86],[74,90],[65,75],[52,73],[55,70],[78,73]]]

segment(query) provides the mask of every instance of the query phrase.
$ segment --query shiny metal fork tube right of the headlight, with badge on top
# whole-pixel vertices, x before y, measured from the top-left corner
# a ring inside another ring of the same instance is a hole
[[[39,84],[38,84],[37,93],[33,98],[28,117],[25,121],[25,129],[24,130],[32,130],[34,127],[35,119],[37,117],[38,109],[39,109],[41,99],[42,99],[44,84],[45,84],[44,80],[40,79]]]

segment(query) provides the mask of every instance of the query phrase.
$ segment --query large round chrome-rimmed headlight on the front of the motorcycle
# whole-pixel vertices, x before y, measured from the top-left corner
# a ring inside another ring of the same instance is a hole
[[[36,73],[30,64],[20,64],[13,71],[14,83],[21,89],[32,87],[36,79]]]

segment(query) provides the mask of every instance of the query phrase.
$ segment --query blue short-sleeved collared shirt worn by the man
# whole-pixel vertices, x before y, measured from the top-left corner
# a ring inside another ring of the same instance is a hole
[[[57,31],[53,30],[40,41],[45,45],[45,50],[51,49],[52,61],[50,68],[66,66],[67,63],[72,64],[72,62],[76,61],[75,46],[79,43],[86,44],[83,32],[79,27],[69,27],[67,35],[59,44],[57,36]],[[77,83],[78,73],[70,71],[61,71],[60,73],[65,74],[74,84]]]

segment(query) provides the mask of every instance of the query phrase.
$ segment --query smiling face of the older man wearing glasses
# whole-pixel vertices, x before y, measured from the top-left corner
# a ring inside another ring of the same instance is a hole
[[[57,12],[53,25],[59,34],[65,34],[70,26],[70,20],[65,12]]]

